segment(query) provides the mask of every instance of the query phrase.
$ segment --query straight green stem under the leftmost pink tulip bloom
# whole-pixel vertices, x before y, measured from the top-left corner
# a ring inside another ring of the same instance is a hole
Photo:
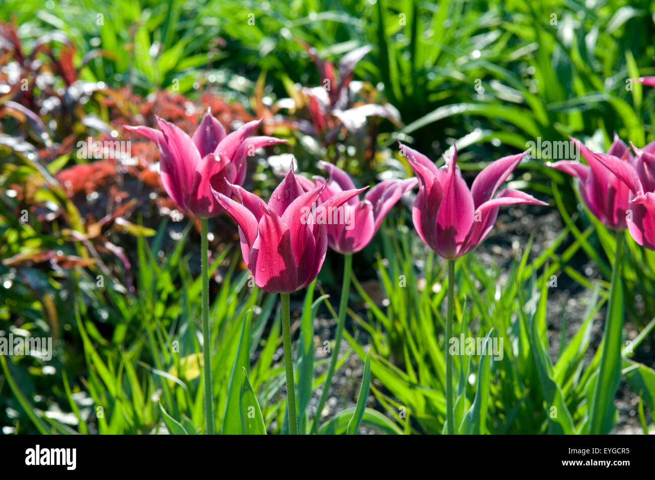
[[[205,432],[214,435],[214,394],[212,394],[212,336],[209,331],[209,268],[207,265],[207,224],[206,218],[200,219],[200,257],[202,257],[202,363],[204,368],[204,414]]]

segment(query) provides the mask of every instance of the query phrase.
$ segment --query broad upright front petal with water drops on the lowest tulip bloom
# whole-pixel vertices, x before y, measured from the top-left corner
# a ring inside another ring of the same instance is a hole
[[[289,227],[271,208],[262,206],[257,238],[250,250],[255,284],[269,293],[291,293],[298,287]]]

